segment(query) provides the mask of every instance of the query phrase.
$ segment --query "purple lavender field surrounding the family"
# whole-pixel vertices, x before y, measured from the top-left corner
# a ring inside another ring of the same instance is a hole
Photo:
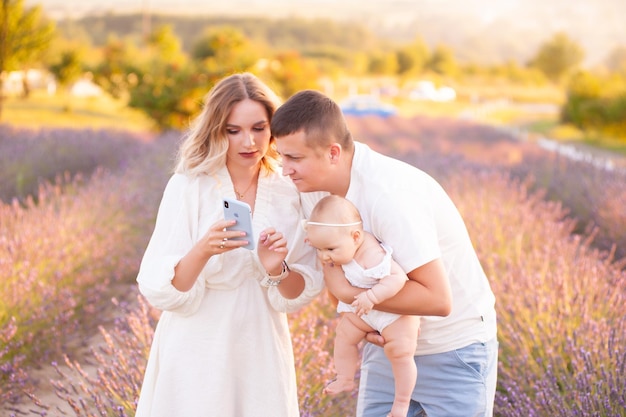
[[[626,176],[493,128],[350,119],[436,177],[499,314],[497,416],[626,416]],[[178,136],[0,128],[0,415],[132,416],[159,312],[134,282]],[[290,317],[303,417],[332,400],[336,317]]]

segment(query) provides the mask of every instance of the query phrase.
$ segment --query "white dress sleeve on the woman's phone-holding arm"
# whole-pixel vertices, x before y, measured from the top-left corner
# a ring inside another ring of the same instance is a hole
[[[193,246],[191,184],[188,177],[180,174],[168,182],[137,276],[139,290],[151,305],[184,315],[198,309],[205,291],[200,279],[189,291],[179,291],[172,285],[174,268]]]

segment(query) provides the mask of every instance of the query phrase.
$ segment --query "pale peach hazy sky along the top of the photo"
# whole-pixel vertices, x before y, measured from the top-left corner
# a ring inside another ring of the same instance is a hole
[[[326,17],[366,24],[393,40],[421,36],[427,43],[454,46],[459,58],[481,50],[526,56],[557,31],[580,43],[586,62],[595,64],[608,51],[626,45],[623,0],[27,0],[41,4],[54,19],[86,14],[158,13]],[[521,41],[523,40],[523,42]]]

